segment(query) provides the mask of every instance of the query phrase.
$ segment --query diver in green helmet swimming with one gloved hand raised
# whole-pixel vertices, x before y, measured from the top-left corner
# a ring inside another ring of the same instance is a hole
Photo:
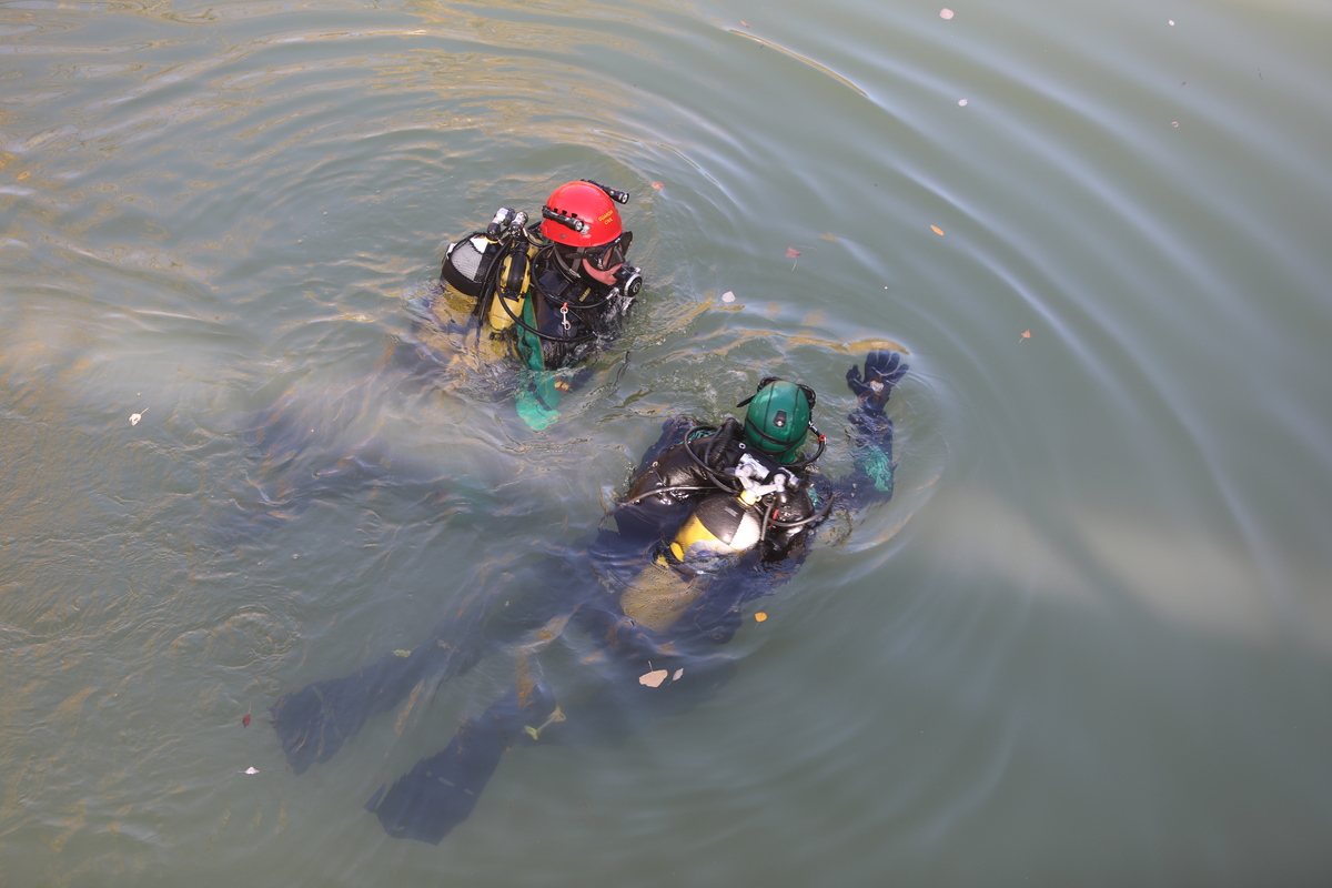
[[[511,656],[513,686],[366,803],[390,836],[438,843],[469,816],[506,751],[614,740],[714,695],[737,666],[719,646],[742,608],[795,574],[819,522],[892,495],[884,406],[906,371],[900,355],[871,351],[863,374],[847,373],[858,399],[847,417],[854,469],[838,481],[815,469],[826,439],[813,423],[814,390],[801,383],[763,378],[737,405],[747,407],[743,421],[669,421],[595,539],[550,555],[531,588],[492,590],[405,656],[278,699],[270,712],[288,762],[300,774],[421,682]],[[581,658],[582,684],[555,688],[539,654],[566,631],[601,652]]]

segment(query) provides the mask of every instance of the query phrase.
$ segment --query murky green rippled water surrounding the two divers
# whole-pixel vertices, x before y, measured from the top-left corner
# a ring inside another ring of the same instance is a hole
[[[0,885],[1325,884],[1332,9],[940,5],[0,1]],[[583,176],[649,289],[566,419],[385,374]],[[839,429],[867,339],[898,497],[717,699],[438,847],[361,804],[506,664],[288,770],[277,695],[586,539],[677,410]],[[401,485],[244,525],[366,441]]]

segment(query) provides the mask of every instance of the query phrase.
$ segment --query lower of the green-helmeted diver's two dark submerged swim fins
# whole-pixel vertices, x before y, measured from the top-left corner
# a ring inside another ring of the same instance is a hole
[[[365,809],[394,839],[440,844],[472,813],[505,751],[530,740],[525,728],[542,724],[555,708],[545,684],[525,696],[509,688],[489,710],[465,720],[444,752],[421,759],[388,789],[380,787]]]

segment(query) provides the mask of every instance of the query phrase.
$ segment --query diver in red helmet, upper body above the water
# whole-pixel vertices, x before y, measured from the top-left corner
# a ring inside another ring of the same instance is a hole
[[[533,429],[558,417],[559,398],[578,382],[574,367],[619,335],[638,290],[617,204],[626,192],[591,180],[551,192],[541,218],[501,208],[485,232],[449,245],[441,278],[449,286],[430,306],[436,320],[477,329],[493,357],[525,371],[518,415]],[[449,309],[454,316],[450,316]]]

